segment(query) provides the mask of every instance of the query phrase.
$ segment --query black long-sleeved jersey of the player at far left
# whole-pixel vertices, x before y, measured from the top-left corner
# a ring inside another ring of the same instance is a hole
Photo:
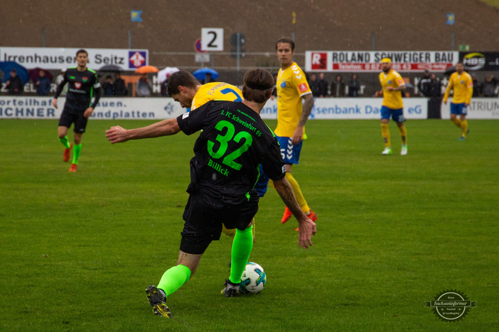
[[[64,79],[57,86],[54,98],[62,92],[62,88],[67,83],[68,91],[64,110],[71,113],[84,112],[88,107],[94,107],[100,98],[100,83],[97,73],[91,69],[78,71],[77,67],[69,67],[64,73]],[[92,98],[95,97],[93,103]]]

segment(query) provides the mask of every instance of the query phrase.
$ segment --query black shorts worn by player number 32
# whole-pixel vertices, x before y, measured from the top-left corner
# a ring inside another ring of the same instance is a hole
[[[258,198],[253,190],[249,201],[214,209],[206,206],[199,195],[190,195],[184,210],[180,250],[193,255],[204,253],[212,241],[220,239],[222,224],[227,229],[245,230],[258,211]]]

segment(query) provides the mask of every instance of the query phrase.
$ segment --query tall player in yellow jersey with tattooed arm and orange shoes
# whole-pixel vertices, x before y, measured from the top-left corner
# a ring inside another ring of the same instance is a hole
[[[293,61],[294,41],[281,38],[275,44],[280,69],[277,73],[277,128],[275,136],[279,141],[282,159],[286,164],[286,179],[293,188],[296,200],[305,213],[313,221],[317,216],[308,206],[298,182],[291,175],[291,166],[298,164],[305,122],[313,107],[312,91],[308,86],[305,73]],[[305,100],[302,106],[302,99]],[[286,207],[281,222],[291,218],[291,212]],[[298,229],[296,229],[298,230]]]

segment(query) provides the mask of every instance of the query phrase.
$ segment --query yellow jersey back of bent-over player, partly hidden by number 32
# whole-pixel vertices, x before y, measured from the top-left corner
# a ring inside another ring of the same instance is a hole
[[[202,85],[194,95],[191,111],[208,103],[210,100],[243,101],[243,92],[232,84],[213,82]]]

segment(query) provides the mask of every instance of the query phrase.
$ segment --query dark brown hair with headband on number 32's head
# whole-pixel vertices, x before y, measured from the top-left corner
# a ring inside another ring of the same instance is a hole
[[[274,78],[265,69],[248,70],[243,79],[243,97],[255,103],[264,103],[270,98]]]

